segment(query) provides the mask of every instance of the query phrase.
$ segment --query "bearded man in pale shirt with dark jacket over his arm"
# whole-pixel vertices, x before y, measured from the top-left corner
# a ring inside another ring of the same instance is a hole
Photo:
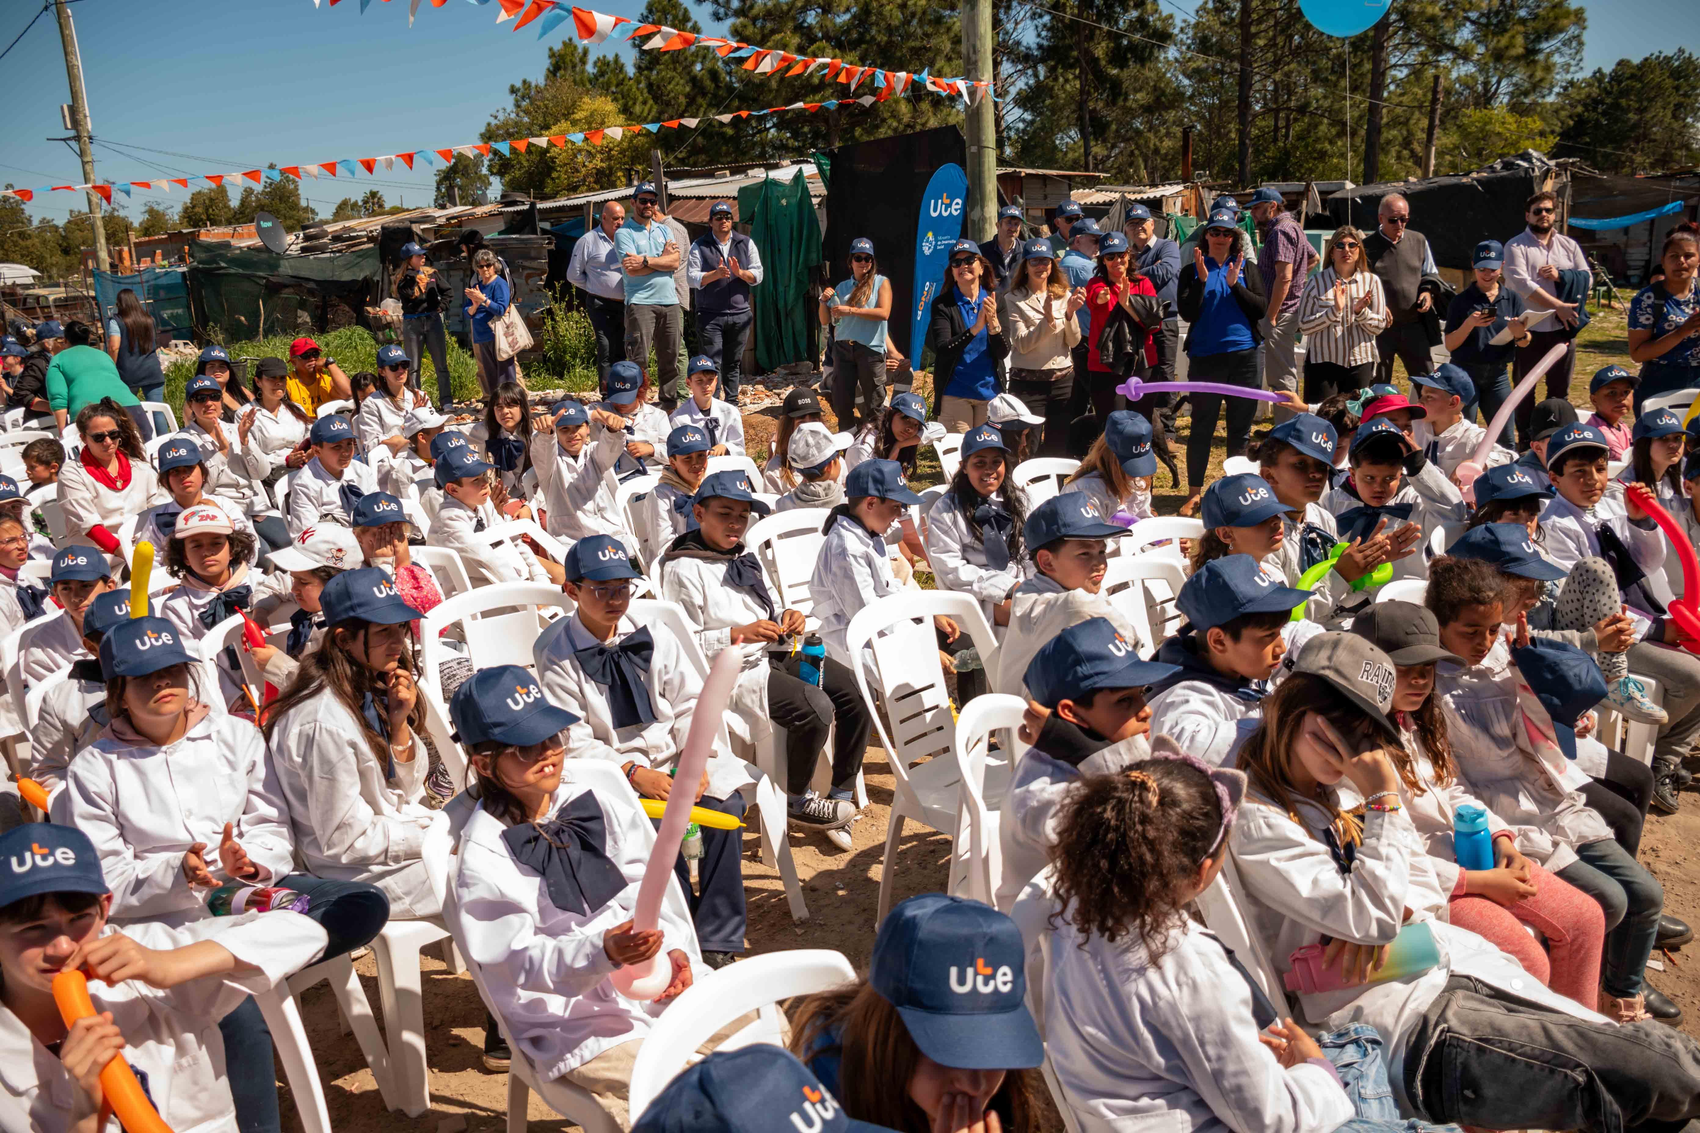
[[[1547,397],[1569,397],[1571,374],[1576,369],[1576,333],[1588,324],[1593,270],[1583,246],[1557,229],[1557,217],[1559,199],[1550,192],[1537,192],[1528,199],[1523,206],[1528,226],[1504,245],[1504,282],[1523,297],[1532,316],[1552,311],[1530,330],[1528,345],[1516,348],[1511,382],[1520,382],[1549,350],[1562,345],[1564,357],[1547,370]],[[1533,408],[1533,394],[1516,406],[1520,433],[1528,433]]]

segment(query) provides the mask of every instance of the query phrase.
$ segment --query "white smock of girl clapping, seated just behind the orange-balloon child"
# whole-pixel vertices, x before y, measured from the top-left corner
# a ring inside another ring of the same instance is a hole
[[[270,871],[267,880],[294,870],[265,739],[231,715],[206,715],[165,747],[107,727],[66,769],[53,820],[95,844],[117,921],[177,926],[211,916],[206,890],[184,877],[184,854],[206,843],[207,870],[221,885],[233,880],[218,860],[226,822],[248,860]]]

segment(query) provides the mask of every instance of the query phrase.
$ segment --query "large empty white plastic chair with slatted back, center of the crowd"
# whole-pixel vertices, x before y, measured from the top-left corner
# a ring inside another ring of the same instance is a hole
[[[904,591],[864,606],[847,630],[857,688],[879,729],[896,792],[891,802],[891,826],[886,832],[886,858],[879,878],[879,916],[891,907],[891,880],[898,865],[898,843],[906,819],[942,834],[957,829],[959,775],[954,759],[944,759],[955,744],[955,720],[944,668],[938,664],[938,639],[933,617],[952,618],[979,651],[986,671],[996,673],[998,642],[971,595],[950,591]],[[867,649],[874,661],[869,666]],[[876,698],[872,683],[877,683]],[[884,713],[881,713],[884,703]],[[887,727],[889,719],[889,727]],[[1008,754],[986,769],[984,798],[1001,809],[1008,793]],[[962,883],[962,863],[952,854],[945,892],[955,893]]]

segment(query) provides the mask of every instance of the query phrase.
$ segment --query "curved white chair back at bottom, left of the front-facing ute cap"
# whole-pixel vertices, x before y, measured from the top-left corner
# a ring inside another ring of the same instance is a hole
[[[721,1028],[756,1011],[753,1023],[728,1036],[716,1050],[756,1043],[784,1046],[789,1024],[779,1006],[782,1001],[830,992],[853,980],[855,968],[830,948],[770,951],[711,972],[668,1004],[638,1048],[629,1094],[632,1121]]]

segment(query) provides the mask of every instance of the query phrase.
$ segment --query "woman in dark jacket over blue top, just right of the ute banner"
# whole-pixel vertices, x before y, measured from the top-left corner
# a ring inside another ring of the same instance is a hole
[[[950,248],[926,341],[933,348],[933,416],[949,433],[986,423],[998,396],[998,360],[1008,355],[991,263],[972,240]]]

